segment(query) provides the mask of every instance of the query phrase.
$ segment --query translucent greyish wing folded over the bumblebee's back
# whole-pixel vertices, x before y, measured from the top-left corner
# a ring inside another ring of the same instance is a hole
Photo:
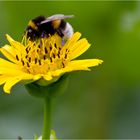
[[[50,21],[53,21],[53,20],[58,20],[58,19],[66,19],[66,18],[72,18],[74,17],[73,15],[63,15],[63,14],[56,14],[56,15],[52,15],[48,18],[46,18],[46,20],[42,21],[41,24],[43,23],[47,23],[47,22],[50,22]]]

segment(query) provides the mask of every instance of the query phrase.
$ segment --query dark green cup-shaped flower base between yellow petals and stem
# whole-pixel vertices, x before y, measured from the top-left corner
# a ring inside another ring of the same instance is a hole
[[[56,82],[47,86],[41,86],[36,82],[26,84],[25,87],[30,95],[40,98],[56,97],[63,94],[68,85],[68,74],[61,76]]]

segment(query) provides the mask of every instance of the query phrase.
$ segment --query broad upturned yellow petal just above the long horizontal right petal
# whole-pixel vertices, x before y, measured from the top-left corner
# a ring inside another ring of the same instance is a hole
[[[89,47],[90,47],[90,44],[88,43],[88,41],[85,38],[79,40],[77,43],[75,43],[73,46],[71,46],[70,52],[69,52],[69,55],[70,55],[69,59],[72,60],[72,59],[80,56]]]

